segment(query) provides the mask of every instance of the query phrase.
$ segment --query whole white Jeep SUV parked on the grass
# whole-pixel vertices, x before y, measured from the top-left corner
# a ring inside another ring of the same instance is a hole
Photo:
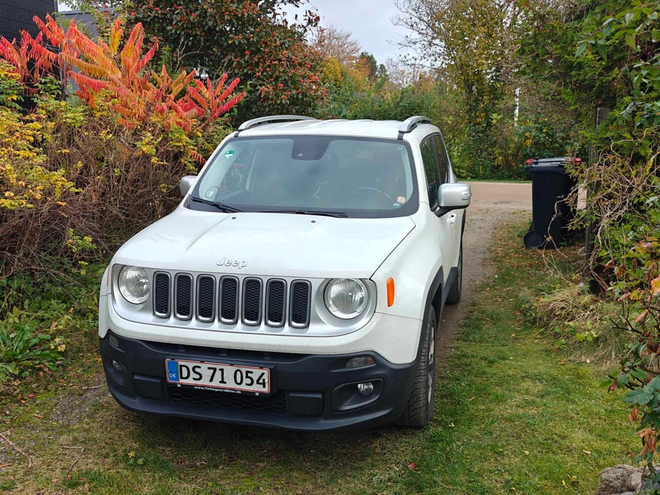
[[[428,118],[250,120],[181,193],[102,280],[119,404],[300,430],[432,419],[470,186]]]

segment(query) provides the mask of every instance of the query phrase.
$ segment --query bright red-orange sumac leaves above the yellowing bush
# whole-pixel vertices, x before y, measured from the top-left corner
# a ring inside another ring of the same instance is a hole
[[[78,96],[91,106],[96,104],[98,98],[115,100],[113,107],[126,125],[135,125],[143,121],[148,113],[155,111],[166,124],[189,131],[192,118],[216,120],[245,96],[241,93],[219,104],[220,100],[230,97],[239,83],[234,80],[225,90],[226,74],[220,78],[217,86],[210,80],[207,80],[205,86],[201,83],[191,85],[195,78],[194,70],[180,72],[172,78],[165,66],[159,73],[147,69],[158,49],[158,43],[153,43],[143,53],[144,29],[141,23],[133,27],[120,50],[124,34],[120,19],[110,29],[109,43],[91,41],[78,30],[75,22],[65,31],[50,16],[45,21],[39,18],[34,20],[51,45],[60,50],[58,59],[61,60],[61,67],[64,67],[65,76],[72,78],[78,85]],[[32,51],[26,52],[26,55],[51,70],[54,63],[52,55],[45,56],[43,53],[47,50],[35,50],[35,45],[38,45],[35,41],[30,43]],[[25,58],[28,57],[24,56],[23,60]],[[44,63],[41,62],[43,58]],[[14,63],[13,60],[10,62]],[[19,69],[28,71],[28,63],[21,61]]]

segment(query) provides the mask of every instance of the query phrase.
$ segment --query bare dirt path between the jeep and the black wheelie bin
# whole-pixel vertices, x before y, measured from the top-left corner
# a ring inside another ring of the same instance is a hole
[[[472,201],[463,235],[463,296],[461,304],[443,310],[437,338],[439,362],[450,353],[474,287],[490,276],[485,259],[495,226],[512,214],[531,217],[531,183],[470,182],[470,186]]]

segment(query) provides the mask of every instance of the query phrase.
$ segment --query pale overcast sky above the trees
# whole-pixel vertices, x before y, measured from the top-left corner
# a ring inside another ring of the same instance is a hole
[[[307,0],[305,10],[317,10],[321,25],[333,25],[340,30],[349,31],[353,39],[362,45],[362,50],[375,56],[377,63],[384,64],[388,58],[397,58],[399,47],[406,30],[393,25],[392,19],[398,14],[395,0]],[[59,10],[69,10],[65,2],[60,1]],[[294,14],[296,9],[286,8]]]

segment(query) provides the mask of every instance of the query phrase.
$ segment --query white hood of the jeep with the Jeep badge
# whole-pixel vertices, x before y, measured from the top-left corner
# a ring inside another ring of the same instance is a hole
[[[114,262],[190,272],[369,278],[413,228],[409,217],[224,214],[179,207],[133,236]]]

